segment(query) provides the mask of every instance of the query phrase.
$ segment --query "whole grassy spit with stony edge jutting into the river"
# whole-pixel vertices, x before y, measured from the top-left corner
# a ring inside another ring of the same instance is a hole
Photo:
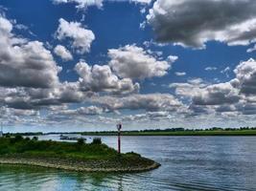
[[[0,138],[0,163],[26,164],[77,171],[134,172],[158,164],[135,153],[118,154],[101,143]]]

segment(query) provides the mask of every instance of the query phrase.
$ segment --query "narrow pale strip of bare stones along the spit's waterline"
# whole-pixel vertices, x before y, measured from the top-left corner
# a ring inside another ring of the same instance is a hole
[[[50,162],[47,159],[14,159],[14,158],[0,158],[0,164],[8,164],[8,165],[26,165],[26,166],[35,166],[35,167],[46,167],[53,168],[59,170],[68,170],[68,171],[76,171],[76,172],[107,172],[107,173],[139,173],[151,171],[153,169],[158,168],[161,164],[151,160],[151,165],[141,166],[141,167],[87,167],[86,165],[81,165],[81,162],[76,162],[76,165],[72,165],[73,163],[59,162],[59,160],[52,160]],[[86,161],[84,161],[86,163]]]

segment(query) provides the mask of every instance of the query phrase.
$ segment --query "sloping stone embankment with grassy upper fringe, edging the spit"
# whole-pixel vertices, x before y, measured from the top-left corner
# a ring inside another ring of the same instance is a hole
[[[159,163],[146,158],[137,159],[40,159],[22,156],[0,157],[1,164],[32,165],[80,172],[143,172],[155,169]]]

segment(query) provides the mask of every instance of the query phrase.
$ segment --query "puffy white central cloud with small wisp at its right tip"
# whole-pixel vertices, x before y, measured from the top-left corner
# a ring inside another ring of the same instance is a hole
[[[172,62],[177,57],[170,57],[170,62],[157,60],[150,53],[147,53],[135,45],[127,45],[119,49],[108,50],[110,61],[108,65],[120,77],[131,79],[145,79],[160,77],[167,74]]]

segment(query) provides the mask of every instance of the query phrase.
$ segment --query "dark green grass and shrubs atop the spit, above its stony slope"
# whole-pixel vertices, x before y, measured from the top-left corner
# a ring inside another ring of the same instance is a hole
[[[12,155],[61,159],[112,159],[119,156],[116,150],[105,144],[81,144],[18,137],[0,138],[0,156]],[[123,154],[123,157],[126,156]]]

